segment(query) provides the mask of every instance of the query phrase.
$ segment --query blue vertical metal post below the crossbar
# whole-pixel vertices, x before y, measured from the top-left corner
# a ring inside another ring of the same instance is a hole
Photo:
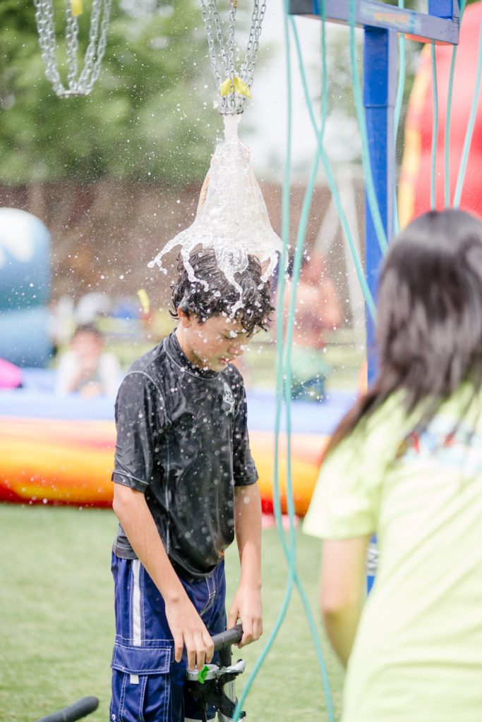
[[[363,105],[369,138],[371,171],[376,198],[387,239],[394,235],[395,189],[395,100],[397,95],[397,33],[366,27],[363,41]],[[382,251],[368,201],[366,214],[366,277],[371,293],[376,297]],[[374,324],[366,314],[366,348],[368,352],[369,382],[376,371],[374,358]]]

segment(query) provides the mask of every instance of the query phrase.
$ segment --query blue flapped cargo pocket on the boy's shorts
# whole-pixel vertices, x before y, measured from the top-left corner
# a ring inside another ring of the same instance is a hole
[[[111,667],[111,722],[168,721],[170,646],[116,643]]]

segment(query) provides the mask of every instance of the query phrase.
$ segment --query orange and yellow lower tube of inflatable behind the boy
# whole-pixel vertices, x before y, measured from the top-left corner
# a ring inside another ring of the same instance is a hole
[[[110,506],[116,430],[111,421],[0,418],[0,500]],[[295,510],[309,506],[327,438],[293,434],[291,458]],[[272,511],[275,438],[250,432],[263,510]],[[280,439],[280,500],[286,510],[286,438]]]

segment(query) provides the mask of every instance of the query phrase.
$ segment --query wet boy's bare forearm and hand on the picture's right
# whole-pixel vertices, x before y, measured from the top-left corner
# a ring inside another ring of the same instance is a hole
[[[235,487],[234,529],[241,561],[241,580],[228,615],[228,629],[243,625],[240,647],[262,635],[261,499],[258,484]]]

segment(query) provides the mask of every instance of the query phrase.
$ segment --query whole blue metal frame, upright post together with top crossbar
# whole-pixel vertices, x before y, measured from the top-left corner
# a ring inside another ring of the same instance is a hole
[[[319,17],[324,2],[326,18],[348,24],[350,0],[290,0],[291,14]],[[364,28],[363,105],[369,137],[371,170],[376,198],[387,238],[393,237],[395,188],[395,94],[397,85],[397,32],[416,35],[429,43],[456,45],[460,30],[459,0],[429,0],[429,13],[405,10],[373,0],[358,0],[356,23]],[[382,253],[376,236],[369,204],[365,203],[366,276],[376,298],[376,283]],[[367,317],[369,380],[374,377],[374,326]]]

